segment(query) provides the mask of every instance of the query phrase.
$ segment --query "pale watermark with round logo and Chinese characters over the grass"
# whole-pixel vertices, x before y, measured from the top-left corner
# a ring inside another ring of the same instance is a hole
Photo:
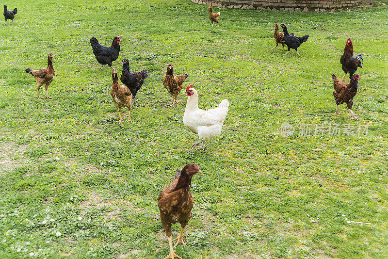
[[[280,135],[289,136],[368,136],[369,124],[361,123],[331,123],[322,124],[298,124],[295,127],[288,122],[283,122],[280,126]]]

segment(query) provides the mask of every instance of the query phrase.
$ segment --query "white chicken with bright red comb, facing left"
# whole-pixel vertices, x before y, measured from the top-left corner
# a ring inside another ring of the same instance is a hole
[[[190,148],[202,143],[202,146],[198,149],[205,150],[205,141],[217,137],[221,133],[222,125],[228,112],[229,101],[224,99],[218,108],[204,111],[198,108],[198,93],[193,88],[193,85],[186,87],[185,93],[189,97],[187,98],[186,109],[183,115],[183,123],[202,139],[202,141],[194,142]]]

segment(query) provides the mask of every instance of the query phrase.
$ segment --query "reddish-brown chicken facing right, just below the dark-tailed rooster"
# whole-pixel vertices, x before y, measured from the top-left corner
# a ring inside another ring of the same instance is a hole
[[[355,113],[352,111],[353,106],[353,97],[356,96],[357,93],[357,81],[360,79],[359,75],[354,75],[348,84],[340,81],[334,74],[332,76],[333,85],[334,85],[334,99],[336,100],[337,108],[334,114],[341,114],[338,112],[339,104],[346,103],[348,105],[348,109],[352,114],[353,119],[359,119],[356,117]]]

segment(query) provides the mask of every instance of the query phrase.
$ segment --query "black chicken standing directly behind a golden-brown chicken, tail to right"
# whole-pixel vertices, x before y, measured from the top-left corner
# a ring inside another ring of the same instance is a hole
[[[147,70],[143,68],[140,72],[129,71],[128,59],[123,59],[121,64],[123,64],[123,72],[121,73],[120,81],[129,88],[132,93],[132,103],[135,103],[136,93],[148,76]]]

